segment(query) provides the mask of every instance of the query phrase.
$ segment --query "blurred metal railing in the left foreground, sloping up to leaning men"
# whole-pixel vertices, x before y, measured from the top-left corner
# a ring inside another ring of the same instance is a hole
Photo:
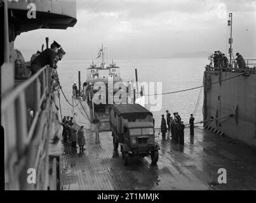
[[[1,119],[6,138],[4,162],[5,167],[10,169],[10,171],[7,171],[10,174],[10,184],[13,183],[14,179],[20,177],[20,174],[24,174],[22,162],[25,161],[32,164],[34,168],[37,168],[36,165],[39,164],[38,158],[39,154],[41,154],[42,146],[39,145],[34,148],[37,146],[38,141],[34,143],[33,138],[42,136],[39,128],[44,127],[39,127],[39,120],[47,120],[45,115],[41,115],[41,112],[49,108],[50,102],[47,101],[50,101],[50,95],[50,67],[43,67],[27,80],[16,80],[15,88],[2,95]],[[45,138],[39,138],[39,140],[45,140]],[[36,153],[36,157],[34,157],[35,154],[28,152],[31,147],[33,148],[32,151]],[[13,154],[17,154],[16,158],[13,157]],[[11,159],[13,161],[10,161]],[[15,167],[16,173],[11,172]],[[24,180],[24,182],[26,181]],[[24,182],[20,184],[24,184]],[[22,185],[13,185],[15,184],[10,186],[11,189],[15,187],[22,188]]]

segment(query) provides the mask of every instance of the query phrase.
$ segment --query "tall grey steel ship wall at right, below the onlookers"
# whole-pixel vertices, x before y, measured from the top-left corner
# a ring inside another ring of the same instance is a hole
[[[205,127],[256,146],[256,74],[205,71]]]

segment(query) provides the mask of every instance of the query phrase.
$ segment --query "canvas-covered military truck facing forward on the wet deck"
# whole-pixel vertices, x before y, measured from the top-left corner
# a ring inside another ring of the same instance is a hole
[[[159,145],[154,140],[152,113],[139,104],[112,105],[110,126],[113,136],[114,155],[118,156],[120,144],[123,164],[128,157],[150,155],[152,164],[158,162]]]

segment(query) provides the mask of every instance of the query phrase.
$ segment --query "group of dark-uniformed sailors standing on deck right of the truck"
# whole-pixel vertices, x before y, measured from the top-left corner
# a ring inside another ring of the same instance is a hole
[[[179,112],[174,112],[173,116],[169,113],[168,110],[166,110],[166,119],[165,115],[161,115],[161,127],[159,131],[162,133],[162,140],[166,140],[166,133],[167,138],[170,139],[170,136],[172,137],[172,140],[176,143],[179,143],[180,145],[184,145],[184,122],[182,121]],[[190,134],[191,136],[194,136],[194,117],[191,114],[191,117],[189,119],[190,124]],[[160,133],[160,132],[159,132]],[[159,134],[158,133],[158,134]]]

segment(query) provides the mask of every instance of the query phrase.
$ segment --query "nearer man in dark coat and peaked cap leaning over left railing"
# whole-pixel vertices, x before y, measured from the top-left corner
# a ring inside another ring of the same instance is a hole
[[[46,65],[50,65],[51,68],[55,67],[55,58],[58,53],[60,44],[53,42],[50,49],[45,49],[37,56],[31,64],[31,72],[35,74],[38,70],[42,69]]]

